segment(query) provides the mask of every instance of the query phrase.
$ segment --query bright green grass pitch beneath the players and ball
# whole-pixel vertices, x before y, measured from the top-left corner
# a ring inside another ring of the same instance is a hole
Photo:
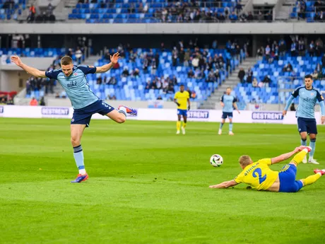
[[[300,144],[295,125],[93,120],[78,173],[69,120],[0,119],[0,243],[325,243],[325,177],[297,193],[208,185],[240,173],[237,159],[278,156]],[[228,124],[224,127],[227,132]],[[325,168],[325,127],[315,158]],[[220,153],[224,164],[209,158]],[[283,164],[271,168],[279,170]],[[298,178],[315,165],[301,164]]]

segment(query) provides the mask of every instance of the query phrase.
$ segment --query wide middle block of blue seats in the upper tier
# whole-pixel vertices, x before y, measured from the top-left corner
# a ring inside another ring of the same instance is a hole
[[[238,21],[242,4],[237,1],[117,0],[105,4],[79,1],[69,19],[86,23],[190,23]]]

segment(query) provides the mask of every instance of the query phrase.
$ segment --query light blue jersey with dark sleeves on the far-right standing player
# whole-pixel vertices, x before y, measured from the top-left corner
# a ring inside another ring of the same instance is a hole
[[[307,119],[314,119],[315,118],[315,112],[314,108],[317,103],[317,100],[319,101],[319,104],[321,105],[321,115],[324,115],[324,98],[317,91],[315,88],[312,87],[311,90],[307,90],[305,86],[300,86],[293,93],[291,94],[287,105],[285,106],[285,110],[288,110],[290,104],[293,101],[293,98],[297,98],[299,95],[299,105],[296,111],[296,117],[302,117]],[[288,108],[287,108],[288,107]]]

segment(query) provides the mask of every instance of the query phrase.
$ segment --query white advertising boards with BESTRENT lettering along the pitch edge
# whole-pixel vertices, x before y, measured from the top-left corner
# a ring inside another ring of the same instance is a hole
[[[66,107],[41,107],[41,106],[0,106],[0,117],[24,117],[24,118],[66,118],[73,115],[73,108]],[[187,114],[189,121],[196,122],[220,122],[221,110],[189,110]],[[317,124],[320,123],[319,112],[316,112]],[[95,114],[93,119],[107,120],[107,117]],[[130,120],[151,120],[151,121],[175,121],[177,113],[175,109],[150,109],[139,108],[136,117],[128,117]],[[295,112],[288,112],[283,117],[282,112],[273,111],[241,111],[234,112],[233,122],[235,123],[271,123],[271,124],[297,124]]]

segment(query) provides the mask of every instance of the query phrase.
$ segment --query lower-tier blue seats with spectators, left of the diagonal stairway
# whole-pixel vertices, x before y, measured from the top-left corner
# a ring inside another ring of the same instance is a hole
[[[88,84],[101,99],[114,97],[117,100],[155,100],[157,98],[171,100],[179,84],[183,83],[196,94],[191,100],[203,102],[238,66],[240,59],[232,57],[226,50],[196,49],[195,51],[193,52],[194,58],[198,54],[198,57],[203,60],[201,64],[197,59],[196,68],[193,60],[183,62],[179,57],[175,60],[172,58],[173,52],[168,50],[162,52],[160,49],[138,48],[132,52],[124,52],[125,58],[120,59],[116,69],[113,68],[106,74],[88,74]],[[109,54],[107,56],[109,57]],[[238,57],[244,58],[244,53]],[[211,61],[210,67],[208,60]],[[110,61],[103,56],[94,65],[101,66],[107,62]],[[193,75],[189,75],[190,70],[193,71]],[[209,76],[209,70],[215,74],[213,77]],[[28,81],[26,98],[42,97],[49,90],[49,86],[49,81],[36,79]],[[56,97],[66,98],[66,93],[62,91]]]

